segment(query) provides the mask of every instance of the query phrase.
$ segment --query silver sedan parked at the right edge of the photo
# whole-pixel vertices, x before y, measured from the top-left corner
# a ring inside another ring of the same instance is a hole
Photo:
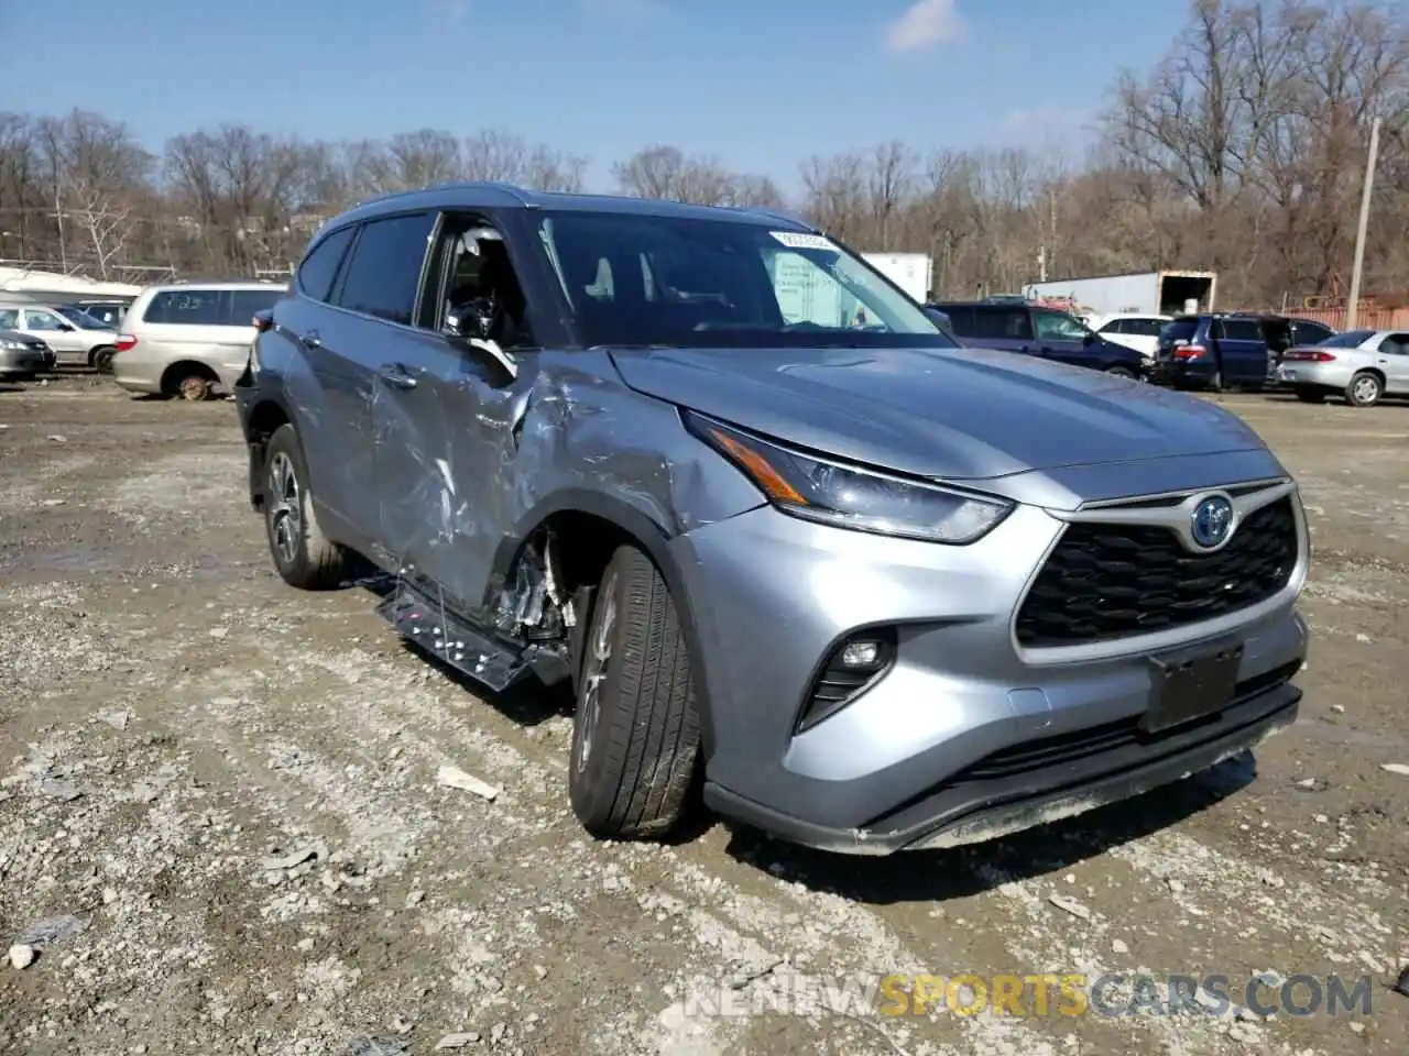
[[[1374,407],[1384,396],[1409,396],[1409,331],[1350,329],[1282,353],[1277,380],[1306,403],[1343,396]]]

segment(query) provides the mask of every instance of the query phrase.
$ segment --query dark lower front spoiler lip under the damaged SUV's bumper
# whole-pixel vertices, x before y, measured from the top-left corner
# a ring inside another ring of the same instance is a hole
[[[781,839],[845,855],[976,843],[1140,796],[1216,766],[1292,725],[1301,698],[1299,689],[1282,683],[1155,743],[1127,743],[998,781],[940,786],[867,828],[830,828],[786,817],[713,781],[704,784],[704,803]]]

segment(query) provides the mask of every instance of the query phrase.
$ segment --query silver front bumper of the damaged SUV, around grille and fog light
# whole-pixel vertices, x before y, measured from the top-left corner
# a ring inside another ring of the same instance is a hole
[[[1150,656],[1208,639],[1208,628],[1158,649],[1134,639],[1081,656],[1017,648],[1013,612],[1060,532],[1034,505],[972,546],[761,508],[676,536],[709,708],[706,801],[802,843],[886,853],[1120,798],[1291,721],[1301,694],[1286,681],[1306,653],[1299,582],[1217,628],[1243,645],[1239,704],[1165,738],[1131,732],[1154,694]],[[799,732],[821,658],[872,627],[896,629],[893,667]],[[1057,762],[1038,766],[1038,756]]]

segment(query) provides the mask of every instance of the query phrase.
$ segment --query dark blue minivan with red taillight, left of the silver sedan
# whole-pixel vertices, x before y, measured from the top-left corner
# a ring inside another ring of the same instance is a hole
[[[1177,315],[1161,332],[1153,380],[1178,389],[1264,389],[1292,345],[1334,331],[1310,320],[1255,313]]]

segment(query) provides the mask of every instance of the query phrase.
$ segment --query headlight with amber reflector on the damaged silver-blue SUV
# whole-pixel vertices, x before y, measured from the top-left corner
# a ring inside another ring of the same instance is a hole
[[[685,427],[733,462],[782,513],[876,535],[954,546],[996,528],[1013,503],[805,455],[681,411]]]

